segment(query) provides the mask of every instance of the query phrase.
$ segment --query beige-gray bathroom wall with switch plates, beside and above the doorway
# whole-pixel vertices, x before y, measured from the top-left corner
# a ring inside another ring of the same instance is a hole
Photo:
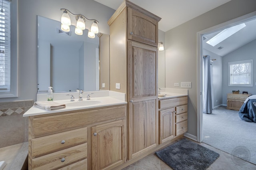
[[[256,11],[256,0],[232,0],[165,33],[166,87],[191,81],[188,133],[197,134],[197,32]]]

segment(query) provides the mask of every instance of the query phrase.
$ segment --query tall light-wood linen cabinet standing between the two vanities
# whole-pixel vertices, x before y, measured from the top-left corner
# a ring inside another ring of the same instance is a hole
[[[158,145],[160,19],[125,0],[108,21],[110,90],[126,93],[128,101],[128,160]]]

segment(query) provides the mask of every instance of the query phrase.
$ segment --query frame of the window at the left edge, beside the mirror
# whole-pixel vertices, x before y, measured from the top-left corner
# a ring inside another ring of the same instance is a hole
[[[0,91],[0,98],[18,97],[18,0],[11,0],[10,91]]]

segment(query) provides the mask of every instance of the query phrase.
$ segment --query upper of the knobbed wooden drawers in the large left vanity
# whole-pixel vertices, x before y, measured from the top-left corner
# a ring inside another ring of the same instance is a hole
[[[87,142],[87,128],[34,138],[31,142],[32,158]]]

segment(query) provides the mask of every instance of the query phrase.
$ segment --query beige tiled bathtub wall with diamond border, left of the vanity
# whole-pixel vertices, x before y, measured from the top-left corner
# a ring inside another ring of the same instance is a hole
[[[0,103],[0,148],[28,141],[28,118],[22,115],[33,100]]]

